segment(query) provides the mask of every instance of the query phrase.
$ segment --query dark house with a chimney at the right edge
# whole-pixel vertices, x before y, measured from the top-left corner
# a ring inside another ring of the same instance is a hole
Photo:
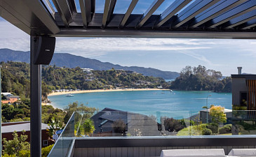
[[[256,133],[256,75],[241,73],[232,77],[233,127],[232,134]],[[250,129],[249,129],[250,128]]]

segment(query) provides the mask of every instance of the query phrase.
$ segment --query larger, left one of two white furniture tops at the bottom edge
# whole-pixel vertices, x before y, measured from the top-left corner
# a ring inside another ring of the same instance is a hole
[[[221,157],[225,156],[224,149],[169,149],[162,150],[161,157],[196,157],[196,156],[207,156],[207,157]]]

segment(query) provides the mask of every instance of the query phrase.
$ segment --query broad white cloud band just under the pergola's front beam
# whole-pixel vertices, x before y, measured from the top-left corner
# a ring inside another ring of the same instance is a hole
[[[74,40],[72,40],[74,39]],[[159,39],[159,38],[83,38],[61,39],[56,45],[57,52],[69,52],[83,57],[95,57],[108,52],[121,51],[175,51],[199,50],[211,47],[191,40]]]

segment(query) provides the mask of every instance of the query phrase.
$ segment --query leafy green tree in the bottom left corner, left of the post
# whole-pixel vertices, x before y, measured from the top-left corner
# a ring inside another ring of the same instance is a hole
[[[3,139],[4,142],[4,150],[3,154],[18,156],[20,151],[29,151],[30,144],[26,142],[27,135],[25,135],[25,130],[22,131],[22,135],[18,137],[17,131],[13,132],[13,140]]]

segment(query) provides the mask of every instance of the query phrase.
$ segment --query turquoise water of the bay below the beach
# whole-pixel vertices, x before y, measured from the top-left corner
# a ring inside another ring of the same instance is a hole
[[[108,91],[86,94],[49,96],[54,107],[63,109],[69,103],[78,101],[99,110],[109,107],[116,110],[137,112],[156,117],[187,118],[206,106],[221,105],[231,109],[231,93],[208,91]]]

